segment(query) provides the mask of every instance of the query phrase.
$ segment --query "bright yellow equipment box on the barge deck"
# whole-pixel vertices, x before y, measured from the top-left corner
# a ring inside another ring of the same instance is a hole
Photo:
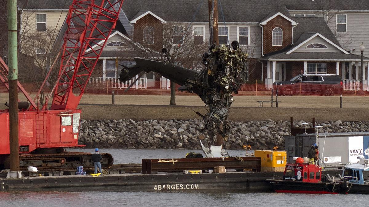
[[[286,151],[255,150],[255,157],[261,158],[262,171],[284,171]]]

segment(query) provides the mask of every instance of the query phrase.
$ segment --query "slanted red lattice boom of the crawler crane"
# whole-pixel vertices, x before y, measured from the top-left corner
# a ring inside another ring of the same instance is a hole
[[[51,109],[77,108],[115,28],[122,4],[123,0],[73,0],[66,19],[67,30]]]

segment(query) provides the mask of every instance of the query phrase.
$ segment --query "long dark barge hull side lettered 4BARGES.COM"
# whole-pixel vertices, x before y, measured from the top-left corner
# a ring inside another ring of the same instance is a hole
[[[342,171],[327,171],[335,176]],[[226,172],[146,175],[124,173],[92,177],[63,175],[0,178],[1,191],[114,191],[114,192],[272,192],[266,179],[283,176],[283,172]]]

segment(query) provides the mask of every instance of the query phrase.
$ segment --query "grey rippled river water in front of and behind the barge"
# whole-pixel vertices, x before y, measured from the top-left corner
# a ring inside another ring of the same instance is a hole
[[[69,151],[93,152],[94,149]],[[190,150],[199,153],[200,150]],[[141,163],[141,159],[182,158],[189,150],[100,149],[117,163]],[[231,156],[244,151],[229,150]],[[369,195],[310,195],[284,193],[199,192],[0,192],[0,207],[15,206],[366,206]]]

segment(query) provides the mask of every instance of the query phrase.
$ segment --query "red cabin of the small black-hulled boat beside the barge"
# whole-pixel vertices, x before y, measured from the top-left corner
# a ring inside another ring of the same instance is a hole
[[[318,183],[321,179],[321,168],[308,163],[286,164],[283,180]]]

